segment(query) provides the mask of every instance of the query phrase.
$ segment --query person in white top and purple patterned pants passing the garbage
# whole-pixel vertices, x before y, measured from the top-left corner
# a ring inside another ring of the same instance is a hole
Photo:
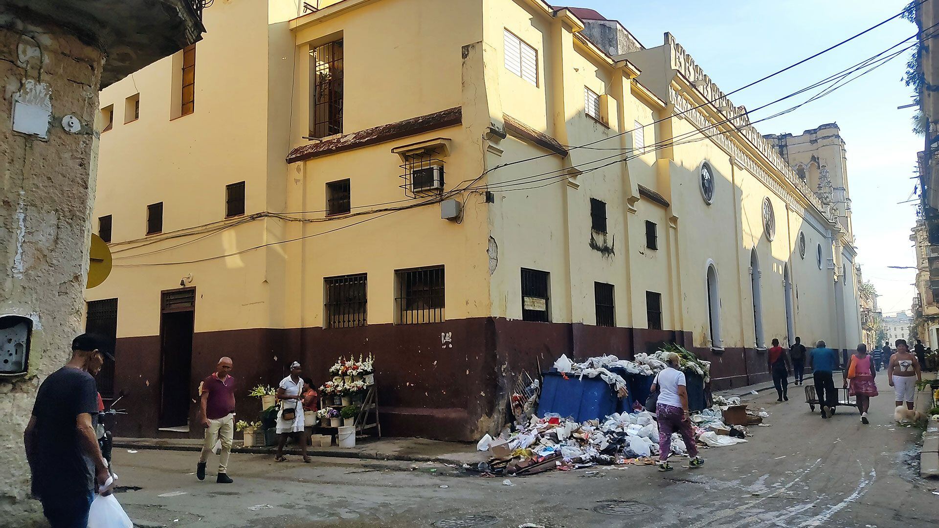
[[[653,380],[652,390],[658,391],[655,405],[658,420],[658,471],[670,472],[669,455],[671,454],[671,433],[678,432],[688,448],[691,460],[688,466],[697,468],[704,465],[704,458],[698,456],[695,435],[691,432],[691,420],[688,417],[688,391],[685,373],[678,369],[681,359],[672,352],[667,364]]]

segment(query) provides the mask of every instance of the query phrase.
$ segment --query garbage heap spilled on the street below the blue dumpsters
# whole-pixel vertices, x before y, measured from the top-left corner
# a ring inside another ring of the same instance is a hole
[[[740,398],[716,398],[717,403],[691,417],[699,447],[722,447],[747,442],[746,426],[729,426],[721,407],[739,405]],[[485,435],[477,444],[490,458],[475,469],[483,474],[524,476],[551,470],[569,471],[593,465],[654,464],[659,455],[659,432],[650,412],[614,413],[602,422],[584,423],[547,414],[528,423],[507,427],[499,437]],[[672,434],[671,454],[685,456],[687,446]]]

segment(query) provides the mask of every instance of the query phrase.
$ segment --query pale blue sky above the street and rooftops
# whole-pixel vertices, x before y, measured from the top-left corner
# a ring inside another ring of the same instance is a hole
[[[647,48],[670,32],[724,93],[781,70],[897,14],[908,0],[580,0],[623,23]],[[736,105],[756,108],[879,54],[913,36],[902,19],[871,31],[773,79],[731,96]],[[912,40],[910,41],[912,43]],[[904,45],[905,46],[905,45]],[[900,49],[900,48],[897,48]],[[761,133],[799,134],[838,123],[848,159],[854,238],[863,278],[873,282],[884,315],[910,310],[916,272],[888,266],[916,266],[910,229],[916,224],[911,199],[916,152],[923,138],[912,130],[912,89],[901,81],[909,52],[831,95],[762,121]],[[808,99],[810,93],[750,116],[756,120]],[[801,99],[799,99],[801,98]],[[788,104],[787,104],[788,103]]]

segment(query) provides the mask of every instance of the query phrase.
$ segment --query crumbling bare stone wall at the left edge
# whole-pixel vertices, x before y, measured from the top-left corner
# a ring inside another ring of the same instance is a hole
[[[81,327],[101,57],[59,27],[0,8],[0,315],[34,325],[28,373],[0,378],[0,526],[40,517],[23,429],[39,383],[64,365]]]

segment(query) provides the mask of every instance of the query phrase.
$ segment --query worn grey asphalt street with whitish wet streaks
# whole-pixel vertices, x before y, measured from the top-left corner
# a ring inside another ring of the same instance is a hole
[[[881,379],[885,385],[885,380]],[[700,469],[679,459],[511,478],[436,463],[233,455],[230,485],[193,472],[177,451],[115,452],[118,499],[141,526],[910,527],[939,519],[939,482],[917,475],[922,431],[893,422],[892,393],[872,399],[870,425],[851,409],[823,420],[801,387],[777,403],[750,396],[770,427],[749,442],[707,449]],[[468,449],[471,448],[468,446]]]

